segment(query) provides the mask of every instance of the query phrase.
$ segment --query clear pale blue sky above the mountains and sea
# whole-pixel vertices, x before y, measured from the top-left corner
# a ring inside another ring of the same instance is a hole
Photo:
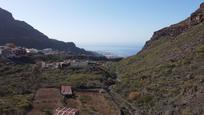
[[[0,0],[50,38],[76,44],[144,44],[153,32],[177,23],[203,0]]]

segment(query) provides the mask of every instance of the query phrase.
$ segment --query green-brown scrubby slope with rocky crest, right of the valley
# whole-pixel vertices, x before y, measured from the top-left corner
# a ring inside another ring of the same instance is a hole
[[[186,20],[155,32],[116,73],[113,91],[136,113],[204,114],[204,3]]]

